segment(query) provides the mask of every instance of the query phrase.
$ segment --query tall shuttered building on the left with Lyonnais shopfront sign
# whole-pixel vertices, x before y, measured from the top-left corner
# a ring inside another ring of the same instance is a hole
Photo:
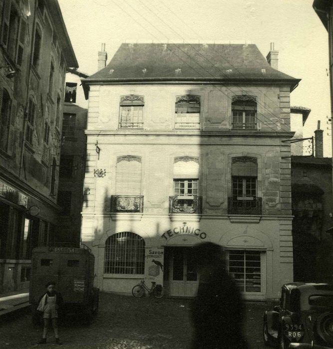
[[[0,293],[28,287],[55,239],[62,105],[77,68],[56,0],[0,1]]]

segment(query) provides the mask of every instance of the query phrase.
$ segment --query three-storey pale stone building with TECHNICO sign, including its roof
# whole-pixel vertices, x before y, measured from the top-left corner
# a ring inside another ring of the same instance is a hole
[[[122,44],[89,96],[82,242],[96,284],[192,297],[191,246],[225,247],[246,299],[293,280],[290,93],[253,44]],[[103,60],[104,57],[104,60]],[[106,66],[105,66],[106,65]]]

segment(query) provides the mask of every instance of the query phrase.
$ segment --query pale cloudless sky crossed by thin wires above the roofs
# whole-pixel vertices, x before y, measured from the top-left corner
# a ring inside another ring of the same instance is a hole
[[[122,42],[254,43],[266,57],[279,51],[279,70],[301,78],[292,106],[312,111],[304,137],[317,121],[324,130],[324,156],[332,156],[328,33],[313,0],[58,0],[79,63],[97,71],[97,52],[108,60]],[[329,133],[329,135],[328,135]]]

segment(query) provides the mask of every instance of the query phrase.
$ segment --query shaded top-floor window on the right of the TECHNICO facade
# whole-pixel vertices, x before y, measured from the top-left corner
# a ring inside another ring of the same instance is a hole
[[[234,96],[232,108],[233,130],[257,129],[257,98],[254,96]]]

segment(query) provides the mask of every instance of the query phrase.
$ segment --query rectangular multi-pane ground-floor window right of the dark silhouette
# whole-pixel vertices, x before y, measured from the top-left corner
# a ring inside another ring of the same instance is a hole
[[[261,252],[229,251],[229,274],[242,292],[261,292]]]

